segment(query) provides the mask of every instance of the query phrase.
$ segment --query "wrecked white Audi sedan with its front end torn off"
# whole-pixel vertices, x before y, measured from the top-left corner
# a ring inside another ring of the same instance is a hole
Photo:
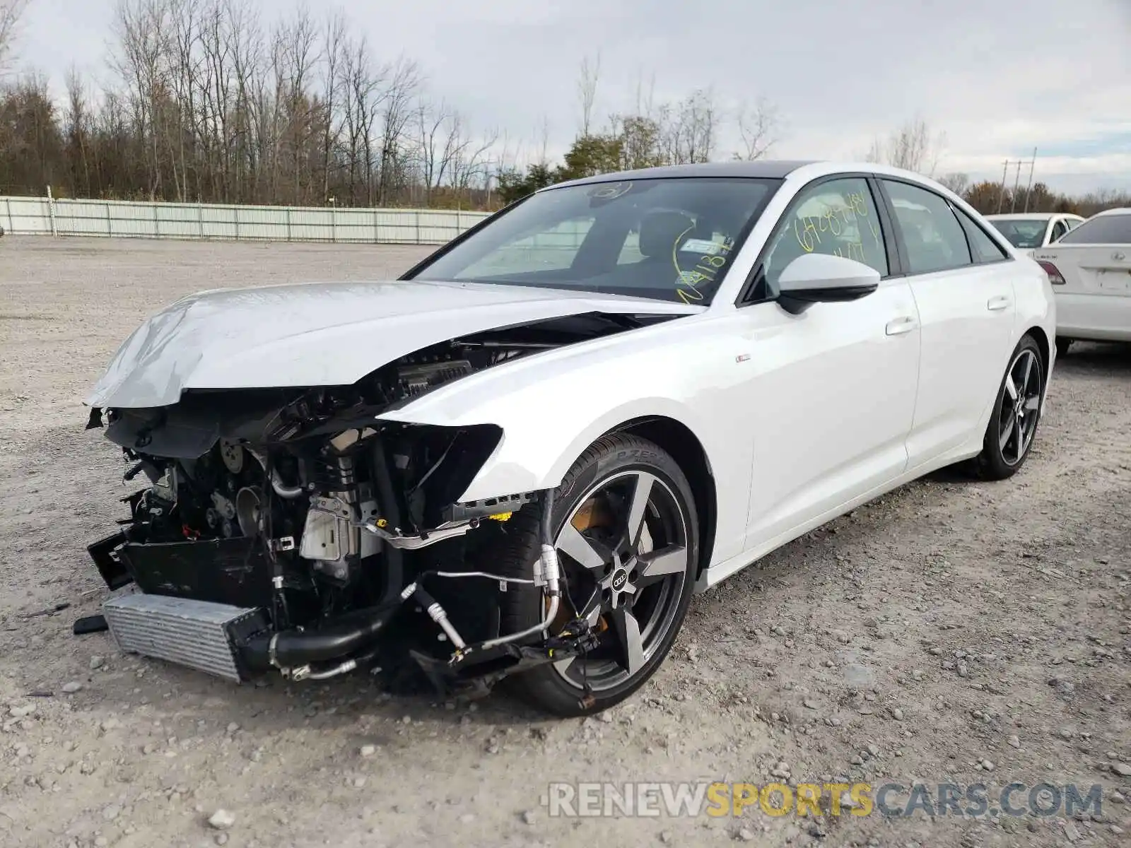
[[[697,589],[941,466],[1012,475],[1054,327],[955,194],[795,162],[555,185],[400,280],[184,297],[87,399],[144,484],[89,546],[136,588],[106,624],[233,681],[602,710]]]

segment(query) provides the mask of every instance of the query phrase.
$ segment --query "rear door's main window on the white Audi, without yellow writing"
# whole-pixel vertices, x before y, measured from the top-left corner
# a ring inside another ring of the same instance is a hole
[[[896,226],[907,248],[908,270],[930,274],[970,265],[970,246],[955,213],[939,194],[905,182],[884,180]]]

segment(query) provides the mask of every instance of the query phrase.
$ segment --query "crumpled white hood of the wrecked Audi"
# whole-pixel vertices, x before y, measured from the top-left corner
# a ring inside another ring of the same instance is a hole
[[[526,286],[301,283],[201,292],[138,327],[86,404],[153,407],[184,389],[344,386],[450,338],[582,312],[691,314],[701,306]]]

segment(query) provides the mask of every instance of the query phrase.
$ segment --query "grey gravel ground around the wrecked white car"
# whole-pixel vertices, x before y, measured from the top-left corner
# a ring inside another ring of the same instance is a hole
[[[938,474],[787,545],[699,596],[654,681],[599,718],[390,698],[360,676],[235,687],[71,635],[104,597],[85,545],[131,491],[80,404],[126,335],[195,289],[388,277],[425,252],[0,242],[0,843],[1128,843],[1131,352],[1115,346],[1061,361],[1012,481]],[[1104,796],[1076,817],[573,819],[547,815],[549,780]]]

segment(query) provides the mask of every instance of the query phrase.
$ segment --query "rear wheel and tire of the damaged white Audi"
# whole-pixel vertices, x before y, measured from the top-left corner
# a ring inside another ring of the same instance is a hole
[[[1009,357],[986,425],[982,452],[975,460],[982,479],[1012,477],[1025,465],[1041,421],[1045,373],[1036,339],[1022,337]]]

